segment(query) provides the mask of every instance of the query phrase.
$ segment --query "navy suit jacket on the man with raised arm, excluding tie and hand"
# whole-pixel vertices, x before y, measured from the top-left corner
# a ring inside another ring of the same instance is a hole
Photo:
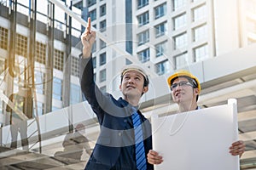
[[[134,170],[136,167],[131,105],[122,98],[103,94],[93,81],[92,59],[80,58],[80,84],[84,97],[96,113],[100,135],[85,169]],[[137,111],[143,122],[145,156],[152,149],[151,124]],[[147,162],[148,163],[148,162]],[[147,164],[147,169],[154,169]]]

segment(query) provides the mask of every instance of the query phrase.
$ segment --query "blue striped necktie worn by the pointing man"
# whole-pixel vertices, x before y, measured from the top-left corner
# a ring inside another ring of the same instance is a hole
[[[135,153],[136,153],[136,164],[138,170],[147,169],[147,161],[145,156],[144,144],[143,144],[143,128],[135,108],[133,108],[133,114],[131,116],[133,127],[134,127],[134,136],[135,136]]]

